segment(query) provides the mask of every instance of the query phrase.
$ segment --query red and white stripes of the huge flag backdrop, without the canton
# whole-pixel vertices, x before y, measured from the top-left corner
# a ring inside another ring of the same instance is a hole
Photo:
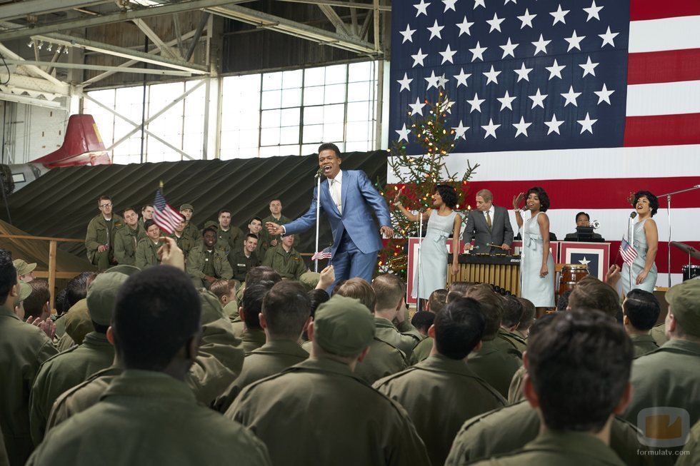
[[[566,151],[455,153],[447,168],[461,172],[479,163],[469,203],[481,188],[496,205],[510,208],[513,196],[542,186],[551,199],[550,230],[572,233],[585,211],[597,231],[618,250],[633,208],[631,191],[659,196],[657,284],[668,285],[669,215],[661,194],[700,186],[700,1],[631,0],[624,146]],[[389,173],[389,183],[396,178]],[[671,240],[700,249],[700,189],[671,198]],[[516,226],[511,209],[511,224]],[[621,263],[619,261],[619,263]],[[671,248],[671,283],[681,281],[688,255]],[[699,260],[691,263],[700,264]]]

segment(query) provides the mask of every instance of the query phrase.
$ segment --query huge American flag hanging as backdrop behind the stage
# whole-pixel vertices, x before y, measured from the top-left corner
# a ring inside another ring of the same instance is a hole
[[[447,166],[480,165],[472,206],[481,188],[510,208],[542,186],[558,238],[586,211],[616,250],[630,191],[700,185],[700,1],[395,0],[391,27],[389,139],[421,153],[409,113],[425,115],[444,86],[456,131]],[[657,283],[667,285],[659,197]],[[671,206],[671,239],[699,248],[700,190]],[[674,283],[684,263],[672,250]]]

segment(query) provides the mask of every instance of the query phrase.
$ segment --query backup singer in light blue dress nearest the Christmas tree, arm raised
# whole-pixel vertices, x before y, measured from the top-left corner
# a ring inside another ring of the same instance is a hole
[[[454,211],[456,204],[457,193],[453,187],[446,185],[435,187],[433,208],[429,208],[423,213],[423,221],[427,220],[428,224],[425,238],[421,241],[419,270],[418,273],[414,273],[414,298],[427,300],[433,291],[445,288],[447,284],[447,246],[445,241],[449,235],[452,235],[452,251],[454,252],[451,272],[456,275],[459,270],[457,256],[461,217]],[[419,216],[411,213],[400,202],[396,201],[394,205],[410,221],[419,220]]]

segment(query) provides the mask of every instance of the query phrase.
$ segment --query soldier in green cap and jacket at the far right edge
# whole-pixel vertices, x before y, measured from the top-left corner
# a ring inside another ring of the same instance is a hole
[[[660,348],[632,365],[632,400],[625,412],[638,422],[641,410],[669,406],[686,410],[690,425],[700,420],[700,280],[686,280],[666,292],[666,336]],[[669,450],[678,450],[669,449]],[[676,456],[656,456],[673,464]]]

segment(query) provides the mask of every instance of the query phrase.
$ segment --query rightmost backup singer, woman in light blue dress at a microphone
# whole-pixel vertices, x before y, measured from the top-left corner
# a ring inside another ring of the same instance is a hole
[[[659,199],[649,191],[634,193],[634,210],[637,221],[634,223],[632,238],[629,231],[625,240],[634,246],[636,258],[631,264],[622,265],[622,290],[626,295],[630,290],[654,291],[656,285],[656,251],[659,250],[659,231],[651,217],[659,210]]]

